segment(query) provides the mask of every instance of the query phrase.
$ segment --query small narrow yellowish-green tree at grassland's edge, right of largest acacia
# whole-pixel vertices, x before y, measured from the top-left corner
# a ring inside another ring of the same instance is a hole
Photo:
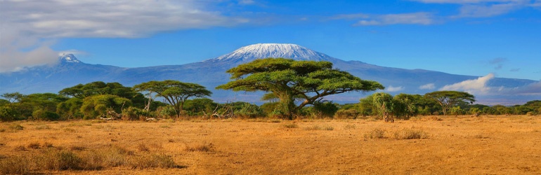
[[[377,92],[372,96],[379,116],[382,116],[385,122],[394,122],[393,113],[395,105],[393,103],[393,96],[385,92]]]

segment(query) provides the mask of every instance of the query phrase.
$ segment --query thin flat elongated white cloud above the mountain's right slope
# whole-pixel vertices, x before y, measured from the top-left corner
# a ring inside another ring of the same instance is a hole
[[[431,13],[402,13],[389,15],[371,15],[367,20],[360,20],[355,25],[431,25],[435,20]]]

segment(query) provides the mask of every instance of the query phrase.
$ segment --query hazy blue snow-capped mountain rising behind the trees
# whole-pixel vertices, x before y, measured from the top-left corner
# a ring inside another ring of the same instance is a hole
[[[328,61],[334,67],[365,80],[376,80],[382,83],[388,92],[424,94],[438,90],[438,87],[461,83],[467,80],[475,80],[478,76],[462,76],[439,71],[422,69],[398,69],[385,66],[377,66],[359,61],[344,61],[321,52],[316,52],[295,44],[259,43],[247,45],[226,55],[183,65],[148,66],[140,68],[122,68],[100,64],[86,64],[79,61],[71,54],[59,57],[58,64],[52,66],[34,66],[22,71],[0,73],[0,93],[21,92],[30,94],[37,92],[58,92],[65,87],[71,87],[79,83],[93,81],[119,82],[126,86],[150,80],[181,80],[183,82],[199,83],[213,91],[212,99],[218,102],[245,101],[258,102],[260,93],[231,92],[227,90],[214,90],[214,87],[228,82],[230,76],[226,70],[238,64],[251,62],[254,59],[265,57],[285,57],[297,60]],[[492,78],[486,83],[490,87],[512,89],[525,87],[533,80]],[[426,88],[419,88],[429,85]],[[330,99],[334,102],[358,102],[365,96],[361,92],[334,95]],[[500,97],[487,96],[485,99],[478,96],[478,101],[505,100],[505,103],[524,103],[533,97]]]

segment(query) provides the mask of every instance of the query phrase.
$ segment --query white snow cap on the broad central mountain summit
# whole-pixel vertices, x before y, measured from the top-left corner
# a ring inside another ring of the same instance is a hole
[[[258,43],[239,48],[226,55],[205,62],[250,62],[267,57],[283,57],[297,60],[335,61],[334,57],[315,52],[301,45],[290,43]]]

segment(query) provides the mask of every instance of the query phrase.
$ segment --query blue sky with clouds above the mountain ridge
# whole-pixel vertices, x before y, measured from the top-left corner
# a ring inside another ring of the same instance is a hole
[[[541,80],[541,0],[4,0],[0,16],[0,71],[65,52],[138,67],[295,43],[379,66]]]

